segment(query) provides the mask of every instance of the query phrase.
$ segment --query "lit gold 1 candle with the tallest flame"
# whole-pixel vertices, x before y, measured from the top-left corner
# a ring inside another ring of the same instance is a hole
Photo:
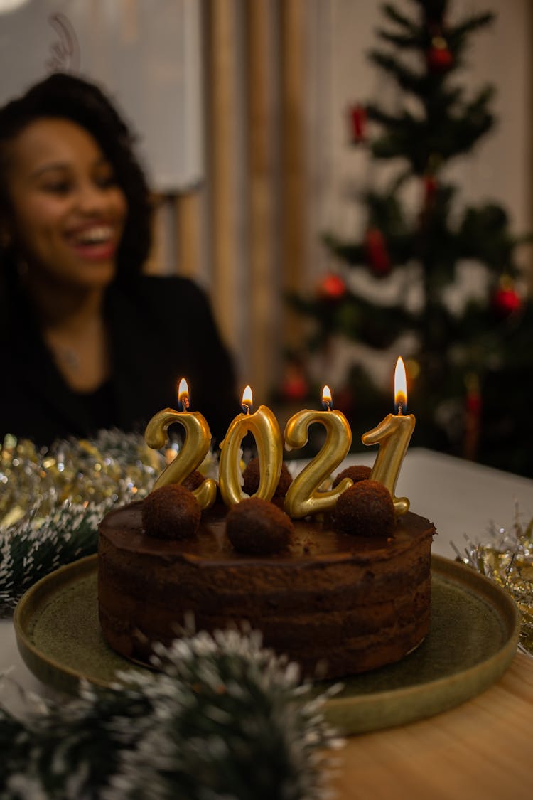
[[[413,414],[404,414],[404,410],[407,407],[407,380],[402,358],[398,358],[396,362],[394,393],[397,413],[388,414],[376,428],[372,428],[368,433],[363,434],[361,441],[364,445],[374,445],[376,443],[380,445],[370,478],[387,486],[392,494],[394,511],[398,517],[409,510],[408,498],[396,498],[394,491],[416,424]]]

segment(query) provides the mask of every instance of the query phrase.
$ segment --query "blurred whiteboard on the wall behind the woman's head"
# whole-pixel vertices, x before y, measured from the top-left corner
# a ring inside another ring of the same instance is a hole
[[[0,0],[0,103],[54,71],[93,79],[138,138],[154,190],[203,173],[200,0]]]

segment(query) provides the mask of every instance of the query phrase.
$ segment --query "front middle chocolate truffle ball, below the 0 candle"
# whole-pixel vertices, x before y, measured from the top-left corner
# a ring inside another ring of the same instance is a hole
[[[236,503],[226,518],[226,534],[237,553],[279,553],[288,546],[293,530],[290,517],[261,498]]]

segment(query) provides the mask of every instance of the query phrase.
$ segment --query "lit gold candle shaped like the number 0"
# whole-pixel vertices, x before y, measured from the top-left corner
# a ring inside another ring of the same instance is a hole
[[[241,443],[250,433],[256,440],[259,457],[259,486],[253,497],[271,500],[280,480],[283,461],[283,445],[280,426],[267,406],[259,406],[255,414],[250,414],[253,404],[252,390],[246,386],[242,395],[242,414],[230,423],[224,441],[221,442],[221,459],[218,480],[222,499],[226,506],[233,506],[249,495],[242,490]]]

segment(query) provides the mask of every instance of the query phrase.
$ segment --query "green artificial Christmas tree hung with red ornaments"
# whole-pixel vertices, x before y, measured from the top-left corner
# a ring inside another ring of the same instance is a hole
[[[344,291],[324,296],[323,281],[311,298],[290,299],[315,323],[310,358],[331,355],[342,340],[366,352],[365,359],[353,356],[344,386],[337,386],[350,406],[344,410],[352,417],[355,445],[357,430],[369,430],[392,410],[390,386],[376,380],[368,353],[390,352],[392,365],[401,353],[417,419],[414,444],[533,475],[527,408],[533,310],[519,290],[523,275],[516,261],[519,244],[530,237],[511,234],[497,203],[460,208],[457,187],[447,180],[450,162],[467,154],[494,122],[491,87],[467,98],[458,82],[471,34],[493,17],[475,14],[451,24],[447,0],[411,3],[411,13],[383,6],[388,24],[370,54],[396,82],[400,107],[369,102],[364,114],[361,104],[350,112],[353,122],[358,110],[353,145],[368,146],[373,162],[388,164],[388,175],[397,170],[385,186],[376,183],[361,194],[366,224],[356,240],[324,237],[338,264],[337,281],[328,275],[328,283]],[[468,270],[477,270],[478,290],[465,297],[461,281]]]

